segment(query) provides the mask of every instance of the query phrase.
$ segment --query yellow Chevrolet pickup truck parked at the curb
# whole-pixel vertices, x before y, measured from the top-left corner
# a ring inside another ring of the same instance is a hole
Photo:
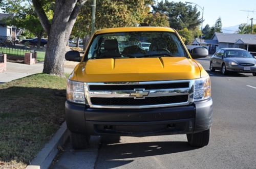
[[[138,44],[149,44],[148,50]],[[68,78],[66,121],[74,149],[90,135],[187,134],[188,144],[208,145],[212,124],[210,78],[178,33],[167,27],[120,27],[94,33]]]

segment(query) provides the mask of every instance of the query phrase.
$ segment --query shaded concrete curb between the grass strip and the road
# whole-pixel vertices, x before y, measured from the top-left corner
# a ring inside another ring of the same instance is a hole
[[[50,167],[53,159],[58,154],[57,146],[65,144],[69,137],[66,121],[61,125],[60,129],[54,134],[50,142],[36,155],[30,165],[26,169],[47,169]]]

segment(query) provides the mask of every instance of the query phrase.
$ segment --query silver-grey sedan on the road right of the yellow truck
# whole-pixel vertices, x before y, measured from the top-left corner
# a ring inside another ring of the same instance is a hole
[[[223,48],[212,55],[210,71],[252,73],[256,76],[256,59],[246,50],[239,48]]]

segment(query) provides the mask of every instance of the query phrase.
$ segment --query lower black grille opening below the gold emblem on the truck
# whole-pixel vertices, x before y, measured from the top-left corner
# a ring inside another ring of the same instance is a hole
[[[188,100],[188,95],[181,96],[165,96],[165,97],[146,97],[145,99],[134,99],[134,98],[91,98],[92,104],[95,105],[108,105],[108,106],[140,106],[140,105],[154,105],[154,104],[172,104],[181,103]]]

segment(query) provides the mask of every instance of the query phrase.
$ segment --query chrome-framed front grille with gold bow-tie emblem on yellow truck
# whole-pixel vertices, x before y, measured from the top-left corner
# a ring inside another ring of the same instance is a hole
[[[193,103],[194,80],[86,82],[92,108],[153,108]]]

